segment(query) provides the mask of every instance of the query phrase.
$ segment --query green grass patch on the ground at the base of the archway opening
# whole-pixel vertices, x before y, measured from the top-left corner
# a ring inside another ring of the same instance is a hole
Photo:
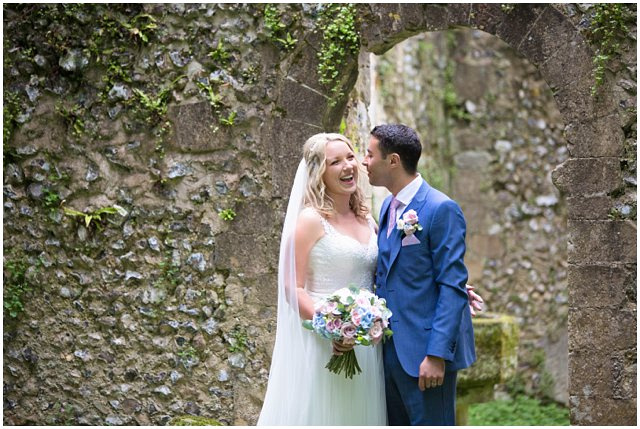
[[[569,409],[528,396],[473,404],[469,426],[569,426]]]

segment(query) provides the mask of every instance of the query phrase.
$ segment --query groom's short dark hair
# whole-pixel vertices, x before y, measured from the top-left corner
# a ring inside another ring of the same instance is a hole
[[[371,130],[371,135],[380,142],[383,158],[391,153],[397,153],[405,171],[415,174],[418,170],[420,154],[422,154],[422,145],[413,128],[402,124],[378,125]]]

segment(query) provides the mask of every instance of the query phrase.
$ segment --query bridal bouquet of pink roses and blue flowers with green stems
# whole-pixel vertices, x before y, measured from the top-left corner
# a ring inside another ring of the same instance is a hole
[[[391,311],[386,301],[366,289],[339,289],[316,307],[312,320],[302,325],[324,338],[354,346],[370,346],[393,335],[389,329]],[[333,355],[326,368],[353,378],[362,370],[353,349],[340,356]]]

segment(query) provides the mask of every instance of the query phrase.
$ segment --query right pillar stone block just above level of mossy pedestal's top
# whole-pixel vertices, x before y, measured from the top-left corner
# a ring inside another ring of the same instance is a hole
[[[636,265],[569,265],[573,308],[622,308],[636,301]]]

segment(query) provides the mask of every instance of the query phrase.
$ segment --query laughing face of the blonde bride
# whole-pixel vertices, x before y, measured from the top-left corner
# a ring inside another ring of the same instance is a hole
[[[358,161],[349,146],[342,141],[327,143],[326,168],[322,180],[328,194],[353,194],[358,183]]]

